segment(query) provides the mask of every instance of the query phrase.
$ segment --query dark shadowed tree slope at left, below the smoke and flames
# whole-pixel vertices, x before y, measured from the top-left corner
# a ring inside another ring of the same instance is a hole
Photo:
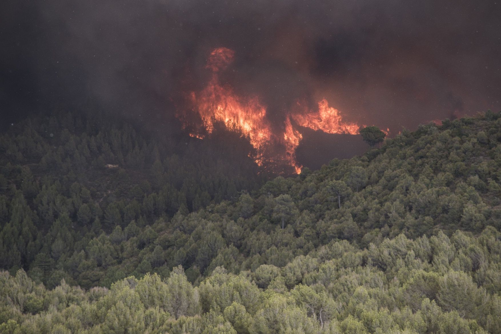
[[[49,263],[102,231],[132,220],[144,227],[258,188],[264,177],[250,145],[236,133],[217,135],[186,135],[176,145],[126,122],[71,113],[12,128],[0,136],[0,267],[42,261],[51,271]]]

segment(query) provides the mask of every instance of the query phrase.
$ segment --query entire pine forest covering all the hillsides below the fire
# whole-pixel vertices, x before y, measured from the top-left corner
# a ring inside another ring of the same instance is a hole
[[[292,177],[222,132],[3,133],[0,333],[501,333],[501,113]]]

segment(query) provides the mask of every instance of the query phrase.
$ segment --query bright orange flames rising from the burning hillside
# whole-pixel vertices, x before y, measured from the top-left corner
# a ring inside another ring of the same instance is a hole
[[[339,110],[330,107],[325,98],[318,102],[318,110],[310,110],[298,102],[299,109],[303,112],[286,113],[281,132],[273,130],[267,118],[267,106],[260,101],[259,96],[238,95],[231,86],[221,83],[219,73],[231,64],[233,58],[234,51],[231,49],[214,49],[205,65],[206,69],[212,71],[211,78],[204,89],[192,91],[189,99],[192,109],[200,116],[206,133],[213,131],[215,122],[222,122],[226,128],[248,137],[256,149],[257,153],[253,158],[258,165],[263,165],[264,161],[285,161],[299,174],[302,165],[296,160],[296,148],[303,138],[301,127],[326,133],[358,133],[360,126],[343,122]],[[179,116],[184,120],[183,126],[187,128],[189,122],[186,119],[189,116],[185,113]],[[192,130],[190,135],[203,138],[203,134],[196,130]],[[284,148],[280,152],[270,149],[272,146]]]

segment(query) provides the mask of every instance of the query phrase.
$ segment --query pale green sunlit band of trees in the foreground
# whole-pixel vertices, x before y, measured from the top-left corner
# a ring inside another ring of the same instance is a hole
[[[331,241],[283,266],[181,265],[88,290],[0,273],[2,333],[496,333],[501,233]],[[222,264],[222,263],[221,263]],[[230,266],[231,268],[231,266]],[[234,268],[232,268],[234,269]]]

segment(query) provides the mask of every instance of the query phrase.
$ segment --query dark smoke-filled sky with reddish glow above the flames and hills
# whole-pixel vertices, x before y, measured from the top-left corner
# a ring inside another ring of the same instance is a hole
[[[501,110],[500,0],[40,0],[0,4],[0,111],[97,101],[169,122],[211,49],[272,122],[297,98],[403,127]],[[167,124],[166,124],[167,125]]]

